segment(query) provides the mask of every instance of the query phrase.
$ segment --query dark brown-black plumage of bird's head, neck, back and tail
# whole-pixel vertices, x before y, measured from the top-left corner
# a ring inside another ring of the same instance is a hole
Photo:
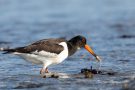
[[[68,47],[68,56],[73,55],[78,48],[84,47],[86,44],[86,39],[83,36],[76,36],[70,39],[69,41],[63,38],[57,39],[43,39],[39,40],[31,45],[18,47],[15,49],[5,49],[6,51],[4,54],[12,53],[12,52],[19,52],[19,53],[33,53],[34,51],[46,51],[50,53],[59,54],[64,50],[62,45],[59,45],[61,42],[66,42]]]

